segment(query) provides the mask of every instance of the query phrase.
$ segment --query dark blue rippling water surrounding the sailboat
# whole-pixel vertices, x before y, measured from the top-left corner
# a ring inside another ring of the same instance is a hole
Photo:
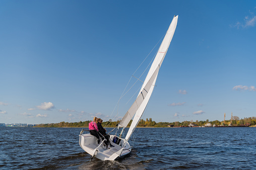
[[[137,128],[132,152],[115,161],[89,161],[80,131],[0,127],[0,169],[256,168],[256,128]]]

